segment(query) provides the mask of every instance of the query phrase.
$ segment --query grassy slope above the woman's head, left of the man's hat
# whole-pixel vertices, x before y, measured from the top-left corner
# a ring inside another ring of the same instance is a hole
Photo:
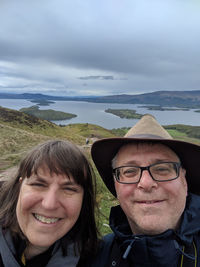
[[[98,125],[58,126],[37,117],[0,107],[0,170],[15,165],[22,154],[47,139],[68,139],[84,145],[86,138],[115,136]]]

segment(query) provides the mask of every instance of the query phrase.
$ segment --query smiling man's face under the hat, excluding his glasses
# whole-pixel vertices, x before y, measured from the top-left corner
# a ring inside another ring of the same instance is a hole
[[[162,144],[128,144],[116,158],[116,166],[148,166],[160,162],[179,162],[177,155]],[[120,184],[115,181],[120,205],[134,234],[160,234],[176,229],[185,208],[187,182],[185,170],[172,181],[154,181],[147,170],[137,184]]]

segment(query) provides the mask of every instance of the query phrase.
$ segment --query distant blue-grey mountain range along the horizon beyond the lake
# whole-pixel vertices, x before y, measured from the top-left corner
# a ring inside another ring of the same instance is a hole
[[[30,99],[30,100],[65,100],[65,101],[87,101],[93,103],[119,103],[119,104],[154,104],[161,106],[176,107],[200,107],[200,90],[197,91],[156,91],[139,95],[108,95],[94,97],[67,97],[50,96],[44,94],[6,94],[0,93],[0,98]]]

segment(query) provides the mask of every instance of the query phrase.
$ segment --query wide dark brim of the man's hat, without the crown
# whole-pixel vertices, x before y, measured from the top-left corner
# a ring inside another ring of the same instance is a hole
[[[200,147],[175,139],[162,138],[106,138],[92,145],[91,154],[96,168],[109,191],[116,196],[111,161],[122,145],[141,141],[159,142],[170,147],[186,169],[188,191],[200,195]]]

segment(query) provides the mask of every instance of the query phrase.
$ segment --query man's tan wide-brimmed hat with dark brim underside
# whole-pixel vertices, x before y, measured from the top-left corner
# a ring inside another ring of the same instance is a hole
[[[92,145],[91,154],[96,168],[114,196],[111,161],[121,146],[141,141],[159,142],[171,148],[186,169],[188,191],[200,195],[200,146],[173,139],[152,115],[145,114],[124,137],[105,138]]]

